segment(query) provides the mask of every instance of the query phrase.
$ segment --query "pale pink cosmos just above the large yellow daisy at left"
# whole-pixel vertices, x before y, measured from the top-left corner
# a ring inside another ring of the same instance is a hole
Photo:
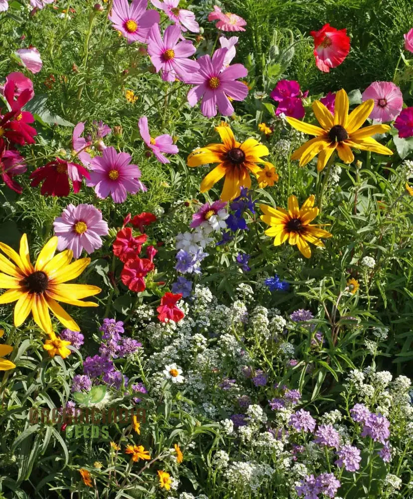
[[[102,246],[100,236],[109,234],[102,213],[93,205],[67,205],[62,216],[54,220],[53,227],[58,240],[57,249],[72,250],[74,258],[79,258],[83,250],[93,253]]]

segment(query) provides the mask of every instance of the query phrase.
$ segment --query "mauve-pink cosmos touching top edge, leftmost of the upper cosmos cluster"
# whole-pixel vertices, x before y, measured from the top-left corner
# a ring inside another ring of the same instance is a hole
[[[109,19],[113,27],[120,31],[128,43],[140,41],[146,43],[149,30],[159,22],[159,13],[156,10],[146,10],[148,0],[114,0]]]

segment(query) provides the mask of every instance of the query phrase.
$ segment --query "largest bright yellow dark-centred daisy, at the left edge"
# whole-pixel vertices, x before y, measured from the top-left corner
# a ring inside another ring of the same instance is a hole
[[[0,304],[17,301],[14,307],[14,325],[21,326],[28,314],[32,313],[34,322],[48,334],[53,333],[50,309],[56,318],[68,329],[80,331],[79,326],[63,310],[56,300],[79,307],[97,307],[93,301],[81,301],[101,291],[97,286],[87,284],[64,284],[80,275],[89,265],[90,258],[80,258],[73,263],[72,250],[65,250],[54,255],[57,238],[51,238],[40,251],[34,266],[30,262],[27,237],[20,239],[17,253],[4,243],[0,250],[0,288],[7,289],[0,296]]]

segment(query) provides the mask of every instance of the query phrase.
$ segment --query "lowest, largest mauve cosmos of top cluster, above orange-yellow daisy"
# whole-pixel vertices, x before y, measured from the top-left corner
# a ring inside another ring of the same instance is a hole
[[[244,100],[248,94],[248,87],[240,81],[235,81],[248,74],[242,64],[232,64],[221,71],[227,51],[227,48],[218,48],[212,59],[209,55],[200,57],[200,69],[187,80],[187,83],[196,85],[188,92],[188,102],[195,106],[202,97],[201,112],[207,118],[216,115],[216,106],[222,115],[230,116],[234,108],[228,97]]]

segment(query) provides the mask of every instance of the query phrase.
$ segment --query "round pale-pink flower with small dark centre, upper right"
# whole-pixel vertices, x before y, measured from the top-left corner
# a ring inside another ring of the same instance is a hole
[[[403,107],[400,88],[391,81],[374,81],[363,92],[362,101],[374,100],[374,108],[369,118],[379,122],[392,121]]]

